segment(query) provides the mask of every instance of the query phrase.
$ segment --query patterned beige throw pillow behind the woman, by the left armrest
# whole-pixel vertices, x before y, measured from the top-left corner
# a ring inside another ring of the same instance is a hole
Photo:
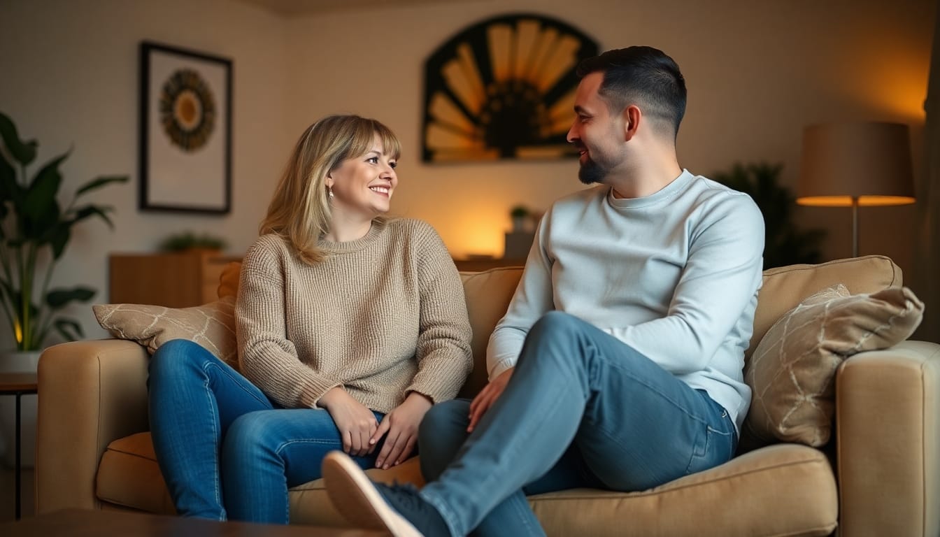
[[[195,308],[141,304],[97,304],[91,308],[102,328],[121,340],[137,341],[151,355],[166,341],[193,340],[238,369],[234,296]]]

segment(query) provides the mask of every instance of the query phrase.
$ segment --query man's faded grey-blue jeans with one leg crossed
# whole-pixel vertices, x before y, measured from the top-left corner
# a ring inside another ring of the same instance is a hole
[[[557,311],[532,326],[469,435],[468,413],[466,401],[435,404],[418,434],[420,495],[454,535],[544,535],[526,494],[645,490],[725,463],[737,446],[728,412],[704,391]]]

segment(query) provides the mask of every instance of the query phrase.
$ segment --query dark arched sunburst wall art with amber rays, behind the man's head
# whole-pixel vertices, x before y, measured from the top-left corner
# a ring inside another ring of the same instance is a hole
[[[575,68],[597,54],[594,39],[542,15],[505,15],[465,28],[425,65],[422,159],[575,155],[565,139]]]

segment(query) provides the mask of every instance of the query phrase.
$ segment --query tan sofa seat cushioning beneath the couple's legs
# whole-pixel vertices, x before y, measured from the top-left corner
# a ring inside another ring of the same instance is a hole
[[[366,473],[380,482],[424,484],[416,457]],[[174,513],[149,433],[108,446],[96,494],[123,507]],[[575,489],[528,499],[549,535],[828,535],[838,518],[831,466],[821,451],[795,444],[751,451],[646,491]],[[291,488],[289,501],[292,524],[349,526],[330,503],[323,480]]]

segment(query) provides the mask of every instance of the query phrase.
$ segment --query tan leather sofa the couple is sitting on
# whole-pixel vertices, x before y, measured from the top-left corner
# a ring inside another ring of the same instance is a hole
[[[521,269],[463,274],[476,369]],[[759,341],[804,297],[841,282],[853,293],[901,284],[898,267],[870,256],[767,271],[755,320]],[[754,344],[752,343],[752,347]],[[57,345],[39,361],[37,508],[173,513],[153,456],[144,348],[127,340]],[[823,450],[782,444],[651,490],[578,489],[530,498],[549,535],[922,536],[940,531],[940,345],[902,341],[838,369],[834,439]],[[420,483],[416,459],[375,479]],[[290,491],[291,520],[345,525],[321,481]]]

